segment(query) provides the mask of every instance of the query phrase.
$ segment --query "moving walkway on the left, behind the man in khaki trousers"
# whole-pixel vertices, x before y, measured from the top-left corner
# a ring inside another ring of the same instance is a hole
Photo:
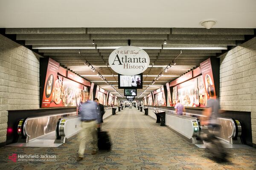
[[[105,108],[103,119],[111,116],[111,108]],[[81,130],[76,112],[35,116],[20,119],[17,125],[17,143],[8,146],[58,147],[69,142]]]

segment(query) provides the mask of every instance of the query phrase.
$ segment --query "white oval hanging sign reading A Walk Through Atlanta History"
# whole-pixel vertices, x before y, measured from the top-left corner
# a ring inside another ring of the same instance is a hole
[[[144,72],[149,65],[148,54],[141,48],[124,46],[114,50],[109,58],[110,67],[118,74],[137,75]]]

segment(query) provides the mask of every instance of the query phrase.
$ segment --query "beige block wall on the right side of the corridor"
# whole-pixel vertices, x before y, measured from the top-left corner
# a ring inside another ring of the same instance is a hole
[[[221,108],[251,112],[253,144],[256,144],[256,37],[220,59]]]

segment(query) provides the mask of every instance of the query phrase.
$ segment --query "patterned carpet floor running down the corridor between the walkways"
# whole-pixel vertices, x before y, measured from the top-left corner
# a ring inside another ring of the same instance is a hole
[[[216,163],[205,149],[161,127],[135,108],[105,119],[102,129],[111,136],[110,152],[91,155],[88,140],[84,160],[77,162],[78,138],[55,148],[2,147],[0,170],[256,170],[256,149],[228,149],[229,162]],[[8,157],[13,153],[56,155],[56,161],[12,162]]]

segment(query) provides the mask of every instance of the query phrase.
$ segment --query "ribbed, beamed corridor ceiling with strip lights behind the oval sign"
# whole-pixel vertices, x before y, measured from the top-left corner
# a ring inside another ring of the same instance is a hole
[[[44,57],[55,59],[62,66],[116,94],[100,77],[84,65],[88,60],[123,96],[118,88],[118,77],[108,66],[111,52],[128,45],[144,49],[150,57],[150,65],[143,72],[143,89],[163,71],[169,62],[180,53],[168,72],[164,72],[154,85],[143,93],[149,94],[160,85],[199,66],[209,57],[217,57],[229,46],[237,45],[246,35],[254,34],[250,28],[6,28],[6,34],[16,34],[16,40],[25,40]],[[164,41],[166,40],[166,44]],[[94,44],[93,44],[94,42]],[[81,49],[81,55],[79,54]],[[153,65],[154,64],[154,65]],[[143,97],[142,96],[142,97]]]

